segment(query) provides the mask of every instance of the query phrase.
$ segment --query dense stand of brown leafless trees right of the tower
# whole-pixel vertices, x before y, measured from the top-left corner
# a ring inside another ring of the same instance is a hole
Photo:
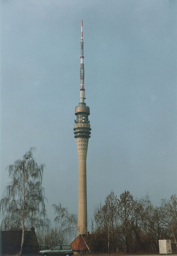
[[[156,253],[159,239],[174,241],[177,249],[177,197],[153,206],[148,196],[135,200],[129,191],[114,192],[95,207],[89,246],[94,253]]]

